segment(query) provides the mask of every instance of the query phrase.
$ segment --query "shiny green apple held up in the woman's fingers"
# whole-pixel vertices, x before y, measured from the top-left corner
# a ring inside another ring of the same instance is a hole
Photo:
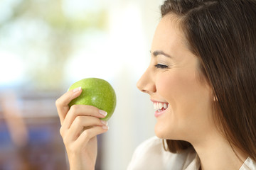
[[[117,103],[116,94],[110,83],[98,78],[81,79],[72,84],[68,91],[80,86],[82,87],[82,94],[70,101],[69,106],[74,104],[95,106],[107,112],[107,116],[101,120],[109,120]]]

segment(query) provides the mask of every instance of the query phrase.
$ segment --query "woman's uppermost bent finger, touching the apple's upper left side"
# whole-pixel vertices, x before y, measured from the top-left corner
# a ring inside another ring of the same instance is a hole
[[[66,92],[65,94],[63,94],[63,96],[60,96],[60,98],[58,98],[57,101],[55,102],[55,105],[56,105],[57,111],[58,111],[58,115],[60,117],[61,125],[63,123],[65,115],[68,113],[68,110],[69,110],[68,104],[74,98],[77,98],[78,96],[80,96],[81,92],[82,92],[81,87],[78,87],[76,89]]]

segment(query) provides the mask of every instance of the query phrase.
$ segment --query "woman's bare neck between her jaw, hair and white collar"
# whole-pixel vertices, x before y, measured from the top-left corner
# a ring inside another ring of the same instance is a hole
[[[240,169],[246,154],[231,147],[219,133],[206,135],[203,140],[191,142],[201,160],[201,169]]]

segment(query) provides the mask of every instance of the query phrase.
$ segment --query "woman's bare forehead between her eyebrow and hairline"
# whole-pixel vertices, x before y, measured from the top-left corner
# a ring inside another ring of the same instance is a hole
[[[154,33],[151,50],[164,50],[173,53],[176,50],[188,50],[186,38],[181,29],[181,20],[174,14],[161,18]]]

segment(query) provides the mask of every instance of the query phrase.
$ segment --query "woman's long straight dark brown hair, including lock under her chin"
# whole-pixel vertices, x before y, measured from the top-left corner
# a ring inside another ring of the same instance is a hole
[[[256,160],[256,1],[166,0],[162,17],[178,18],[200,74],[213,89],[213,117],[230,142]],[[166,140],[171,152],[191,144]]]

